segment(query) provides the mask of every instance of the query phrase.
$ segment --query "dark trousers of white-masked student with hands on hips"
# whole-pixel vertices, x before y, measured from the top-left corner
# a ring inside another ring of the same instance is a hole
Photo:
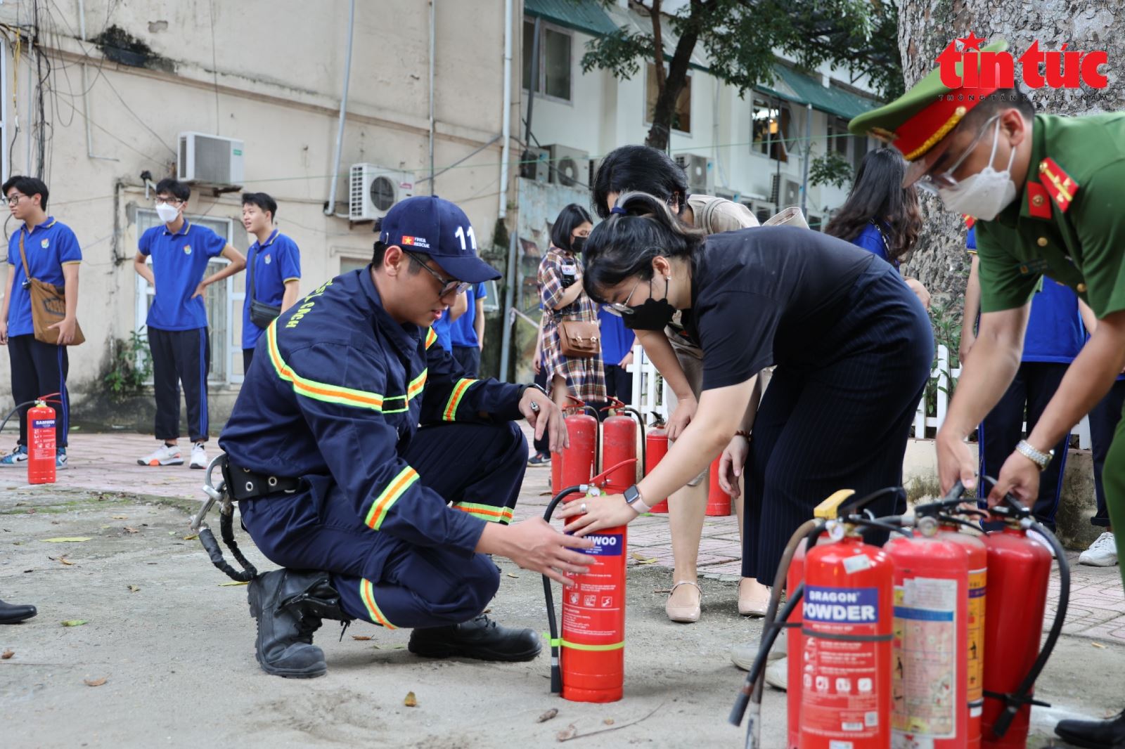
[[[152,379],[156,394],[156,439],[180,437],[180,385],[188,404],[188,436],[207,441],[207,373],[210,337],[206,327],[191,331],[148,328]]]

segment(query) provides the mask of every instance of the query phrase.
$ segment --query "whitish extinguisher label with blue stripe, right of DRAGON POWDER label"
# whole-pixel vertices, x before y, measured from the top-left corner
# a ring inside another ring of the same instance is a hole
[[[956,734],[957,581],[906,578],[894,586],[891,721],[896,746],[909,736]]]

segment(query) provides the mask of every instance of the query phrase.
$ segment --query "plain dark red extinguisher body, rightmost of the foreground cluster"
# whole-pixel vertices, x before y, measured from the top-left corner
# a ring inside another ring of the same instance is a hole
[[[1006,527],[983,538],[988,549],[989,594],[984,610],[984,692],[1015,692],[1038,657],[1051,579],[1051,552],[1019,529]],[[984,749],[1027,743],[1030,705],[1016,713],[1004,737],[992,725],[1004,710],[984,697],[981,743]]]

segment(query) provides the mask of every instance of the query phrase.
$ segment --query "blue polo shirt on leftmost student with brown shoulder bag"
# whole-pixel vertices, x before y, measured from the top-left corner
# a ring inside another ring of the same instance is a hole
[[[11,299],[8,301],[8,335],[34,335],[32,321],[32,295],[24,288],[24,262],[19,256],[19,237],[24,237],[24,254],[32,278],[46,283],[63,286],[63,265],[82,261],[82,250],[78,237],[69,226],[56,222],[53,216],[27,231],[27,225],[8,240],[8,264],[12,265],[15,278],[11,283]]]

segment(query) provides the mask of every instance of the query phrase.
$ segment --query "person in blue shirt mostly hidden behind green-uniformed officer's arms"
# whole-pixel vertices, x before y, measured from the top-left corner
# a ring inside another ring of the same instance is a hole
[[[969,231],[969,252],[972,267],[965,290],[965,316],[969,325],[962,327],[961,355],[972,355],[975,340],[973,321],[980,310],[980,277],[976,259],[975,228]],[[1078,308],[1078,296],[1070,288],[1043,277],[1043,286],[1032,299],[1030,317],[1024,335],[1024,353],[1019,370],[1008,391],[984,417],[978,427],[980,446],[980,475],[999,475],[1004,461],[1024,436],[1026,413],[1027,432],[1035,428],[1047,403],[1054,397],[1066,368],[1082,350],[1086,331]],[[1040,496],[1032,512],[1035,518],[1054,530],[1055,512],[1062,495],[1062,479],[1066,467],[1069,436],[1054,445],[1054,460],[1040,479]]]

